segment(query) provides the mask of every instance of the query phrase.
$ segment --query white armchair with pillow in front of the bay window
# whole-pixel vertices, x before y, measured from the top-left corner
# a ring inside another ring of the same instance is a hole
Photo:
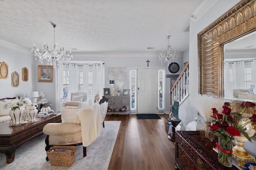
[[[66,109],[80,109],[87,107],[89,101],[87,100],[87,92],[85,91],[76,91],[70,93],[70,101],[62,103],[62,107]]]

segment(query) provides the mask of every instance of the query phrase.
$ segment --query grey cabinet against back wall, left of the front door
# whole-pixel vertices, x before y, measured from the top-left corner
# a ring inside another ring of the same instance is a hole
[[[130,115],[130,96],[105,96],[108,98],[108,108],[112,112],[108,113],[128,113]],[[126,106],[126,111],[114,111],[114,109],[121,109]],[[130,115],[131,116],[131,115]]]

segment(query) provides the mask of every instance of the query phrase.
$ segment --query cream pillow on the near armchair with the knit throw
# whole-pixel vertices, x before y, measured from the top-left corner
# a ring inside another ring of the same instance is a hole
[[[61,107],[61,121],[62,123],[74,123],[76,120],[76,113],[78,113],[81,109],[66,109]]]

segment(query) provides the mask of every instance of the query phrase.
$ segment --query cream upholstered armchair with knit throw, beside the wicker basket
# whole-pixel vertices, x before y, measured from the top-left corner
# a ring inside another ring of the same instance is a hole
[[[54,145],[83,145],[83,156],[86,156],[86,146],[90,145],[101,132],[100,105],[83,109],[60,108],[62,123],[48,123],[44,126],[46,147],[49,150]],[[48,157],[46,157],[48,160]]]

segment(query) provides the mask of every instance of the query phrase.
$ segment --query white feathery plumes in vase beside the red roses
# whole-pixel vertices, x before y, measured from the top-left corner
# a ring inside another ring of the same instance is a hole
[[[195,109],[200,113],[205,121],[212,121],[212,108],[216,108],[217,111],[222,111],[223,99],[214,97],[212,95],[200,95],[198,94],[192,101]]]

